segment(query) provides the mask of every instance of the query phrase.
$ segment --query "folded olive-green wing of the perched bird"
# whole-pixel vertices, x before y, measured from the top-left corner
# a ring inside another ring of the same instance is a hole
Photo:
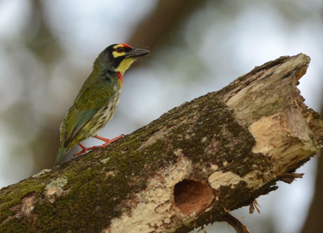
[[[88,80],[87,80],[88,81]],[[61,141],[64,147],[75,138],[84,125],[104,106],[113,94],[113,83],[102,77],[85,82],[61,125]],[[74,145],[72,145],[74,146]]]

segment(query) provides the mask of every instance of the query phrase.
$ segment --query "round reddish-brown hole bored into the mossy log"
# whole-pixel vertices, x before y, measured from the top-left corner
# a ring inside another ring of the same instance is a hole
[[[212,188],[199,181],[182,180],[174,187],[175,205],[185,214],[201,213],[214,199]]]

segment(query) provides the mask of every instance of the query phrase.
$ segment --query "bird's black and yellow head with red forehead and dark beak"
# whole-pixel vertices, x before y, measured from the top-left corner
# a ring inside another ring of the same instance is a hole
[[[99,55],[99,63],[113,72],[123,74],[136,58],[148,54],[149,51],[141,48],[132,48],[127,44],[113,44],[105,48]]]

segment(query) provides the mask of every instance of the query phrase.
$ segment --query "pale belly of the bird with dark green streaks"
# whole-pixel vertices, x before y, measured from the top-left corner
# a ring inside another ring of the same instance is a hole
[[[121,90],[117,90],[111,96],[108,104],[105,107],[102,107],[85,125],[84,128],[89,130],[90,137],[97,135],[98,131],[104,128],[104,126],[112,119],[119,106],[120,93]]]

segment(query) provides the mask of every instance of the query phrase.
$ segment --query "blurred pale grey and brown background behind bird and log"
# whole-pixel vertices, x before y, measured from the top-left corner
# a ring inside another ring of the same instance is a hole
[[[0,188],[54,165],[60,123],[94,59],[121,42],[151,54],[126,72],[119,109],[101,136],[131,133],[255,66],[301,52],[311,63],[298,88],[322,112],[322,0],[0,0]],[[245,216],[254,233],[318,232],[322,169],[322,158],[313,158],[297,170],[303,179],[278,182],[259,198],[260,214],[248,207],[231,214]],[[206,230],[235,232],[226,223]]]

